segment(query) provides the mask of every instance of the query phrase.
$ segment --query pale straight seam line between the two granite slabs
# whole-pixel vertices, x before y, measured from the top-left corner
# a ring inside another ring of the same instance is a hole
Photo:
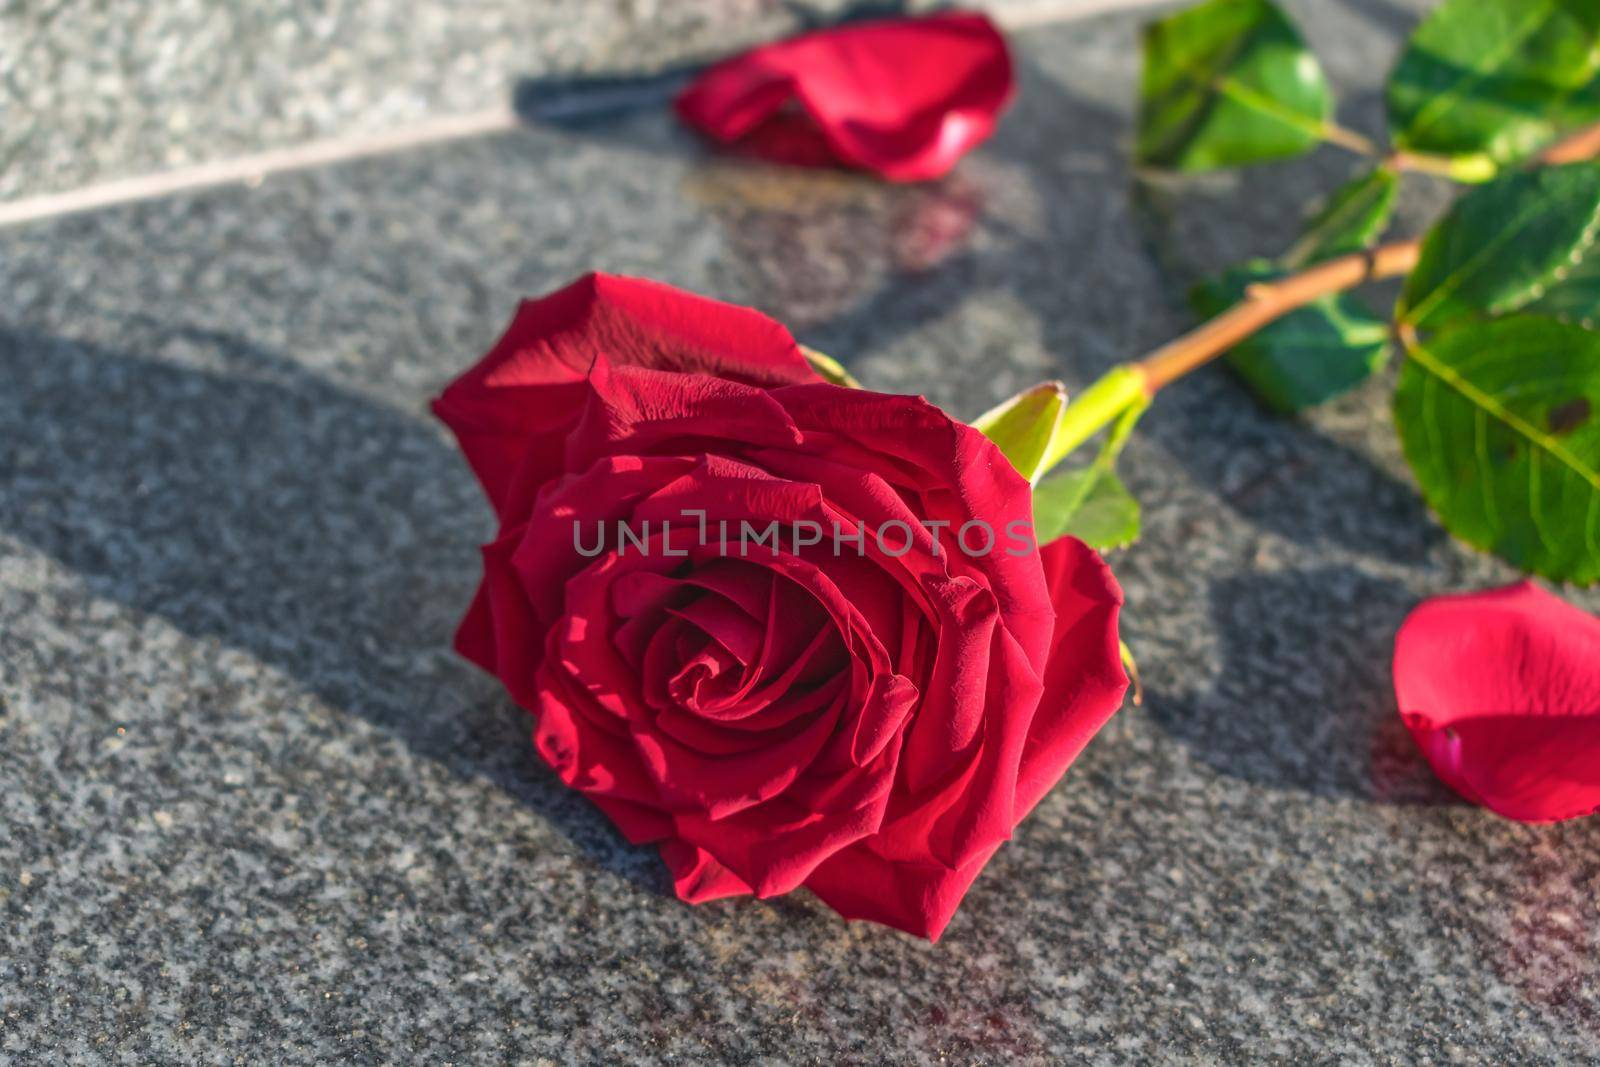
[[[992,11],[990,14],[1005,29],[1026,29],[1032,26],[1072,22],[1112,11],[1155,6],[1168,0],[1043,0],[1018,11]],[[464,115],[445,115],[430,118],[403,130],[390,130],[374,134],[352,134],[307,141],[282,149],[251,152],[229,160],[211,160],[194,166],[182,166],[152,174],[136,174],[117,178],[106,182],[94,182],[80,189],[64,192],[24,197],[10,203],[0,203],[0,226],[16,226],[19,222],[38,222],[64,214],[96,211],[120,203],[136,203],[141,200],[158,200],[162,197],[210,189],[214,186],[256,184],[269,174],[326,166],[350,160],[389,155],[408,149],[443,144],[464,138],[506,133],[518,126],[514,107],[491,107]]]

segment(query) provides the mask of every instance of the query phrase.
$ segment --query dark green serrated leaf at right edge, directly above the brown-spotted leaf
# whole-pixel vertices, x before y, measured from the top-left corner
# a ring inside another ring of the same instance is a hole
[[[1546,299],[1594,254],[1600,165],[1514,173],[1456,202],[1422,242],[1397,315],[1443,326]]]

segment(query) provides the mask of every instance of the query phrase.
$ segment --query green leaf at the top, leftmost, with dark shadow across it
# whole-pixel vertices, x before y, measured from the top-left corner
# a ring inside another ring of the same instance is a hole
[[[1146,27],[1138,158],[1186,171],[1299,155],[1333,99],[1270,0],[1206,0]]]

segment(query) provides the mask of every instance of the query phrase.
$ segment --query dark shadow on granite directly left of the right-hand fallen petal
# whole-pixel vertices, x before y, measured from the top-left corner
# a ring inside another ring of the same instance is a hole
[[[1347,566],[1221,579],[1210,592],[1221,669],[1203,691],[1152,694],[1150,721],[1245,782],[1387,805],[1461,803],[1389,699],[1394,633],[1414,605],[1405,585]]]

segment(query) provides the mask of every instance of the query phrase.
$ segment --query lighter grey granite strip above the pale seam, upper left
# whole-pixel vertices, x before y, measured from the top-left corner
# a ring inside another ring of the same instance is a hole
[[[389,133],[501,107],[525,78],[702,64],[931,2],[0,0],[0,200]],[[986,6],[1034,18],[1091,3],[1106,0]]]

